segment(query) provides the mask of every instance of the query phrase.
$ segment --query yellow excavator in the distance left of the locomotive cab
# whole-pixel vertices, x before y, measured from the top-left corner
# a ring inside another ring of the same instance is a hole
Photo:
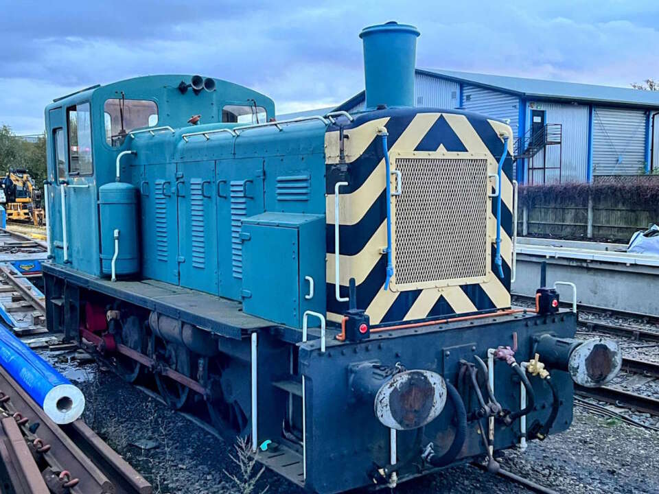
[[[43,226],[41,190],[34,186],[34,180],[27,169],[10,168],[0,185],[5,196],[3,205],[7,211],[8,221]],[[2,196],[0,202],[1,200]]]

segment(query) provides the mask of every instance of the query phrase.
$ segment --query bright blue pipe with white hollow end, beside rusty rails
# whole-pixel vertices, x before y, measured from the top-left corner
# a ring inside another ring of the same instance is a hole
[[[0,366],[55,423],[71,423],[82,415],[82,392],[4,328],[0,328]]]

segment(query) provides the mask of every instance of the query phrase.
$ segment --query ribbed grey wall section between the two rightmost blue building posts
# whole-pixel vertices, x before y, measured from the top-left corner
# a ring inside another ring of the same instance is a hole
[[[645,166],[645,111],[594,108],[592,167],[595,175],[632,175]]]

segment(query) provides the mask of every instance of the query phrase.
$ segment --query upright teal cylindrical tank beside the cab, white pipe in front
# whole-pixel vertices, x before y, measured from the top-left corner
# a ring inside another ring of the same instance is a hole
[[[117,275],[139,272],[139,238],[137,237],[137,187],[113,182],[98,189],[101,215],[101,270],[112,274],[115,254],[115,231],[119,231],[119,252],[115,261]]]

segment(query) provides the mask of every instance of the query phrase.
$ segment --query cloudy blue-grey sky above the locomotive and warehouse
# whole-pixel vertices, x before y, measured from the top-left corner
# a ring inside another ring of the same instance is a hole
[[[419,27],[417,66],[629,86],[659,78],[659,2],[0,0],[0,124],[43,131],[54,98],[96,83],[200,73],[277,113],[363,88],[358,33]],[[551,5],[550,5],[551,4]]]

